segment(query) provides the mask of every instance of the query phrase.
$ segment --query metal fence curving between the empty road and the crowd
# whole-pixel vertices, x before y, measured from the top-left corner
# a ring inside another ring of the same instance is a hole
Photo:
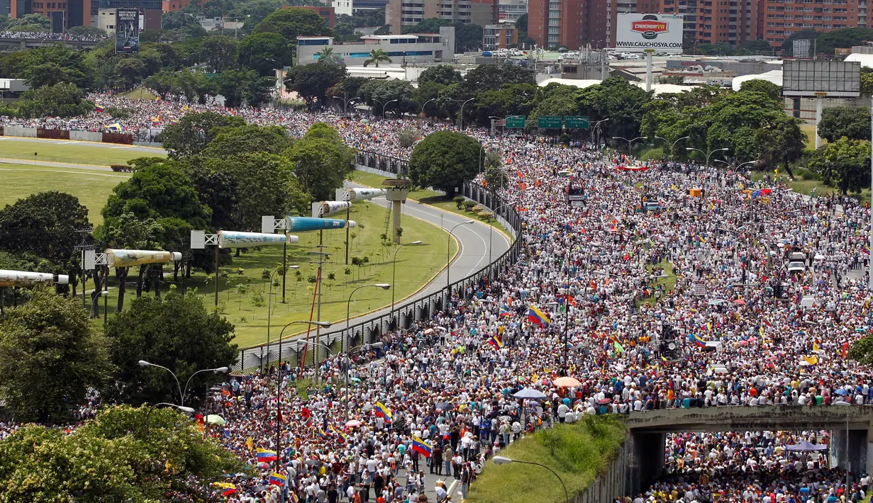
[[[369,166],[367,162],[375,163],[377,169],[388,171],[389,173],[406,174],[409,173],[409,164],[406,160],[398,159],[390,156],[376,155],[375,153],[359,152],[357,153],[358,160],[363,166]],[[382,163],[382,164],[381,164]],[[383,169],[382,167],[388,167]],[[397,170],[397,171],[394,171]],[[451,294],[457,296],[466,296],[467,289],[475,290],[483,284],[489,274],[492,278],[502,275],[506,268],[514,264],[521,251],[522,241],[521,230],[522,221],[515,208],[510,204],[506,204],[505,200],[498,194],[493,194],[478,184],[464,182],[462,187],[459,187],[457,193],[478,202],[489,209],[497,208],[495,217],[501,217],[505,223],[509,224],[514,234],[514,240],[509,249],[503,255],[498,256],[496,260],[485,267],[479,269],[471,275],[463,279],[452,282],[449,289],[441,289],[429,296],[424,296],[400,305],[395,306],[394,313],[385,313],[379,316],[369,317],[365,321],[354,323],[345,328],[345,324],[341,328],[332,328],[329,330],[321,330],[319,343],[327,344],[328,346],[338,345],[344,338],[347,340],[348,348],[354,348],[362,343],[373,343],[382,336],[383,333],[395,329],[409,329],[414,323],[420,320],[430,319],[437,311],[440,311],[450,301]],[[354,321],[354,320],[353,320]],[[292,341],[283,341],[281,351],[276,347],[277,342],[260,344],[247,348],[240,352],[239,360],[234,365],[234,370],[243,371],[258,367],[263,360],[268,362],[277,362],[279,359],[283,361],[290,360],[294,364],[299,364],[299,357],[303,349],[306,347],[306,341],[296,339]],[[340,346],[341,347],[341,346]],[[306,364],[312,363],[312,352],[306,354]]]

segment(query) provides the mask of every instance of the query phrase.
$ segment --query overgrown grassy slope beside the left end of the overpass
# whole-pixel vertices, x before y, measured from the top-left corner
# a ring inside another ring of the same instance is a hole
[[[471,484],[467,503],[558,503],[575,501],[605,472],[625,435],[621,420],[611,415],[585,416],[572,425],[557,425],[513,442],[499,453],[548,466],[567,485],[569,500],[560,481],[541,466],[485,463],[482,474]],[[531,495],[536,494],[535,498]],[[610,495],[612,496],[612,495]]]

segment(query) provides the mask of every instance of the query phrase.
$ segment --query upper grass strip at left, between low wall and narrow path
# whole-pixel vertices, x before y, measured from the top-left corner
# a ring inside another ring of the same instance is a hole
[[[133,150],[130,146],[95,146],[86,141],[64,141],[58,139],[41,139],[39,141],[23,141],[17,139],[0,140],[0,158],[45,160],[51,162],[69,162],[73,164],[90,164],[110,166],[127,164],[128,160],[137,157],[166,157],[167,153],[159,148],[154,152]],[[36,153],[37,155],[34,155]]]

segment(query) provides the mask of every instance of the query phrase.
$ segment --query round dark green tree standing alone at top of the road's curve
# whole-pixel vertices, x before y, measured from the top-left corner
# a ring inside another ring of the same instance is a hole
[[[419,187],[434,187],[452,196],[479,169],[480,145],[466,134],[440,131],[419,141],[409,159],[409,176]]]

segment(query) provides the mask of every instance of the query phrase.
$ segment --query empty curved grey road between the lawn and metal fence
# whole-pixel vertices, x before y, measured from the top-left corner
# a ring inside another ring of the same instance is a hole
[[[351,181],[347,181],[344,185],[345,187],[367,187]],[[382,207],[388,207],[388,201],[385,199],[384,196],[377,197],[370,201]],[[341,213],[332,215],[332,217],[334,218],[342,218],[342,216],[343,214]],[[446,232],[450,231],[452,228],[455,229],[452,231],[452,235],[454,235],[457,239],[458,252],[457,255],[453,258],[450,265],[450,282],[457,282],[461,279],[464,279],[468,275],[471,275],[476,271],[488,266],[488,232],[491,226],[481,221],[473,220],[469,217],[464,217],[459,214],[453,214],[447,211],[443,211],[439,208],[432,207],[426,204],[421,204],[412,200],[407,201],[406,204],[403,205],[403,218],[409,218],[410,216],[433,223],[437,227],[445,229]],[[473,220],[473,223],[470,225],[458,225],[465,221],[471,220]],[[511,243],[509,239],[498,230],[492,230],[491,232],[493,233],[491,235],[491,260],[493,261],[498,259],[500,255],[503,255],[505,251],[509,249]],[[413,247],[415,247],[415,245],[409,245],[409,248]],[[389,282],[390,280],[386,278],[386,281]],[[416,299],[430,296],[431,294],[436,293],[440,290],[444,290],[445,285],[446,270],[443,267],[443,270],[440,274],[436,275],[433,280],[426,284],[422,289],[418,290],[415,294],[405,299],[395,299],[395,307],[400,306],[406,302],[411,302]],[[387,306],[383,309],[376,309],[375,311],[360,316],[353,316],[351,318],[351,324],[354,325],[355,323],[367,322],[368,320],[375,319],[379,316],[388,315],[390,312],[391,307]],[[336,330],[345,330],[345,328],[346,321],[343,320],[340,323],[334,323],[333,327],[325,330],[325,333],[330,333]],[[301,336],[301,333],[292,334],[291,336],[285,336],[283,339],[283,344],[285,344],[284,348],[291,347],[287,343],[289,339],[300,338]],[[244,354],[250,356],[257,354],[259,356],[261,354],[260,348],[263,348],[264,354],[267,354],[268,351],[273,355],[278,354],[278,342],[276,342],[270,343],[269,346],[264,345],[256,348],[251,348],[249,350],[244,350],[240,354],[240,356],[241,358]],[[324,356],[324,348],[319,349],[319,354],[320,357]],[[244,362],[244,368],[251,368],[255,366],[256,363],[257,359],[246,358],[246,361]]]

